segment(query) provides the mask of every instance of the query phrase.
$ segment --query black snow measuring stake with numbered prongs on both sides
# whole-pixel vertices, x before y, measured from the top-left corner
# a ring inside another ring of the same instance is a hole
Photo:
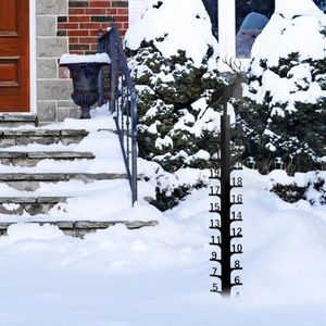
[[[239,297],[238,287],[242,269],[240,254],[242,253],[242,177],[239,171],[242,164],[236,162],[231,154],[230,116],[227,114],[227,102],[234,97],[234,85],[223,89],[223,115],[221,116],[221,152],[218,153],[220,168],[211,170],[210,185],[210,229],[212,230],[210,246],[212,263],[210,277],[211,292],[223,297]]]

